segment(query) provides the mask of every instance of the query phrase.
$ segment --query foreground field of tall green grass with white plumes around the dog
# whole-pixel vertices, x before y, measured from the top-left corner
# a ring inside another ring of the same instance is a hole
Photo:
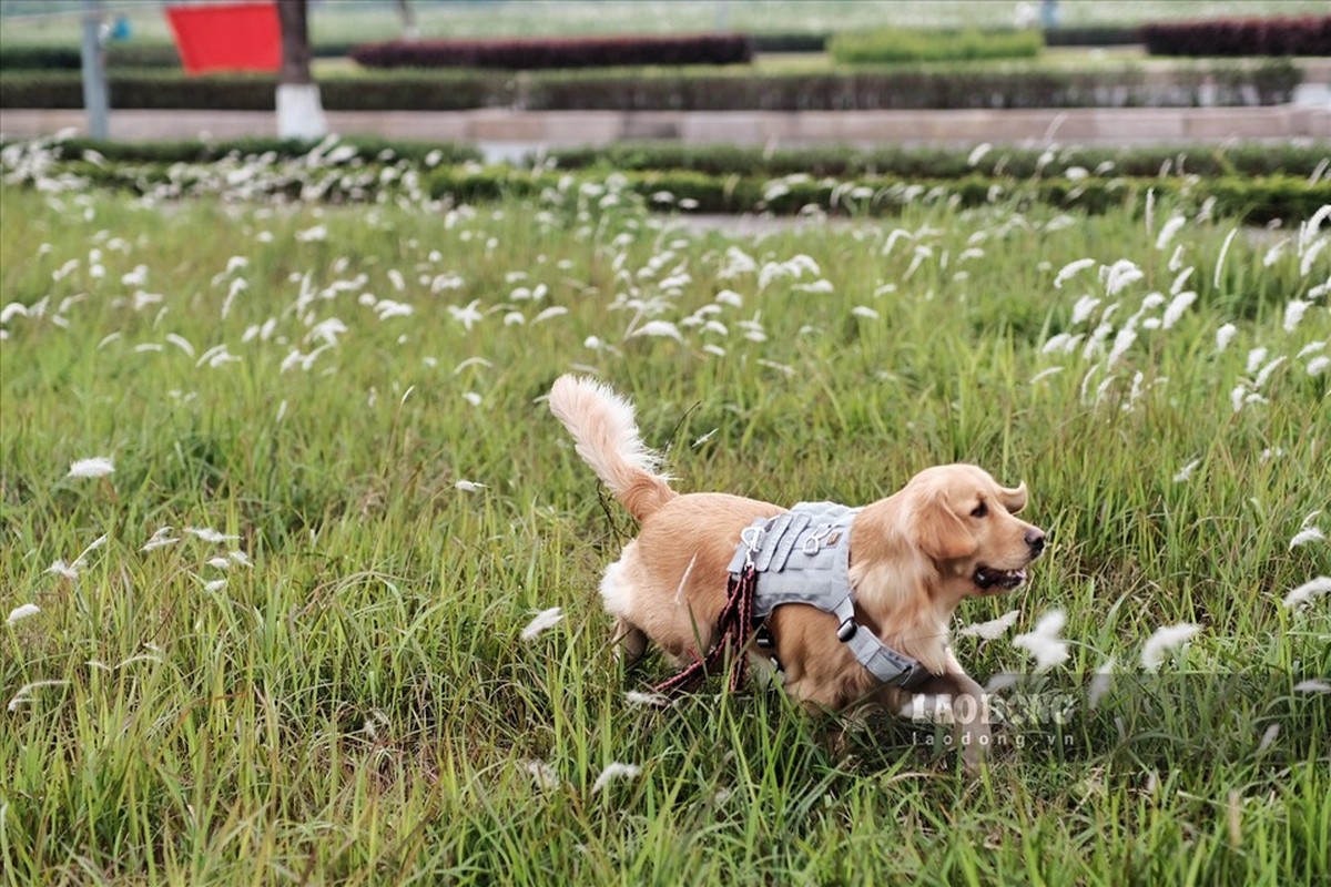
[[[425,209],[48,185],[0,191],[4,883],[1331,878],[1326,213],[744,241],[612,176]],[[984,779],[946,729],[839,742],[779,689],[632,705],[667,669],[622,673],[595,600],[628,519],[540,402],[578,368],[681,489],[1028,481],[1053,549],[958,613],[1013,613],[956,649],[1030,702]],[[1013,640],[1055,609],[1033,674]]]

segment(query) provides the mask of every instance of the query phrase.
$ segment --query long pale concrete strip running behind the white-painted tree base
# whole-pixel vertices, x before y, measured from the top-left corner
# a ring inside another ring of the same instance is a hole
[[[1270,108],[1070,108],[1050,110],[862,112],[330,112],[339,134],[465,141],[494,157],[540,146],[664,141],[685,145],[1150,145],[1331,138],[1331,105]],[[112,110],[110,134],[126,141],[274,134],[274,114],[216,110]],[[0,136],[83,132],[81,110],[0,110]]]

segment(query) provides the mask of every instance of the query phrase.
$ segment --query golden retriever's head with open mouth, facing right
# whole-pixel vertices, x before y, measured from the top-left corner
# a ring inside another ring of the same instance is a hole
[[[1026,484],[1002,487],[976,465],[926,468],[898,496],[906,537],[961,596],[1017,588],[1045,549],[1045,532],[1016,517]]]

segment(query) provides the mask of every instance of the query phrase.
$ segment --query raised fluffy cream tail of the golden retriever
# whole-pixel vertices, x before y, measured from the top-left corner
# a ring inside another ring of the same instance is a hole
[[[550,411],[572,434],[578,455],[639,523],[679,495],[656,473],[660,456],[643,444],[634,404],[607,386],[559,376],[550,390]]]

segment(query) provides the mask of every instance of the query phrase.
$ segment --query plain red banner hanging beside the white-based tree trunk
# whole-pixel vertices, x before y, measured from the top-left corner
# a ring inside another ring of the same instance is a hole
[[[185,73],[278,70],[282,28],[276,3],[166,7]]]

